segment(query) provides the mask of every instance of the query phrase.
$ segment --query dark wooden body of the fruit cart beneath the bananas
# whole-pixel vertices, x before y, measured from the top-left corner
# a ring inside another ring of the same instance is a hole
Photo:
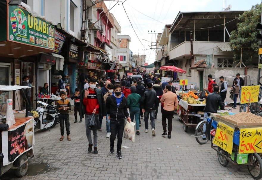
[[[188,104],[187,101],[181,99],[178,105],[180,105],[178,115],[184,123],[184,131],[187,132],[188,126],[196,127],[201,121],[199,118],[203,114],[198,114],[197,112],[203,111],[205,104]]]

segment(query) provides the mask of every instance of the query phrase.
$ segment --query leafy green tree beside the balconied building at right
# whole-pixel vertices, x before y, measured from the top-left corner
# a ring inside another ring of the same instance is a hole
[[[252,6],[251,10],[245,11],[238,17],[237,29],[230,34],[230,47],[233,51],[234,61],[240,61],[241,48],[242,61],[244,64],[251,65],[252,60],[258,59],[258,49],[260,41],[256,40],[256,25],[260,23],[261,4]],[[255,63],[257,65],[257,63]]]

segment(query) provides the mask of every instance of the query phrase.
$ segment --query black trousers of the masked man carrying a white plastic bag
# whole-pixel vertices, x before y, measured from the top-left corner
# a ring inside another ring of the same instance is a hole
[[[117,135],[117,151],[121,151],[124,127],[125,127],[124,119],[118,121],[110,119],[110,132],[111,132],[110,147],[114,148],[115,139]]]

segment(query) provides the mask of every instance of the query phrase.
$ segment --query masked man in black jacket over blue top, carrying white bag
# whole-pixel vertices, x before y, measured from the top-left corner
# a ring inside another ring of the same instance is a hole
[[[121,155],[121,145],[125,126],[125,117],[127,117],[127,123],[131,121],[127,112],[127,99],[123,93],[121,93],[121,85],[114,84],[114,91],[112,96],[109,96],[106,100],[108,119],[110,119],[110,153],[114,153],[114,144],[117,134],[117,150],[116,156],[118,159],[123,158]]]

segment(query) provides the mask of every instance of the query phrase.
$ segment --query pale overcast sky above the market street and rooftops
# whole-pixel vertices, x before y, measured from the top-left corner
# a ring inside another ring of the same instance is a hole
[[[124,1],[122,0],[122,2]],[[230,10],[249,10],[252,5],[258,3],[261,3],[261,0],[226,1],[227,6],[232,5]],[[105,4],[110,9],[116,4],[116,1],[105,1]],[[165,24],[172,24],[179,11],[220,11],[223,8],[223,0],[127,0],[124,2],[124,8],[122,3],[119,3],[110,12],[113,13],[121,26],[121,35],[131,37],[130,50],[134,54],[145,54],[146,61],[151,64],[155,61],[155,50],[150,49],[149,46],[151,46],[151,42],[156,41],[157,34],[149,34],[148,31],[162,33]],[[152,46],[152,48],[154,47]]]

